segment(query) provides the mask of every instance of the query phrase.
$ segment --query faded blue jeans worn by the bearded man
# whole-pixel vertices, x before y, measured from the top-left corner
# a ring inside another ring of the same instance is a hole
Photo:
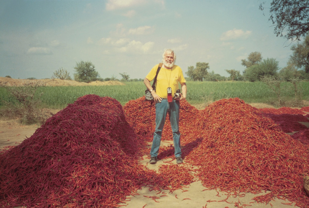
[[[171,103],[169,103],[166,99],[163,99],[161,103],[158,102],[155,105],[155,132],[152,147],[150,150],[151,157],[157,158],[158,156],[163,126],[167,113],[171,121],[171,128],[173,131],[175,157],[181,157],[179,132],[179,101],[176,102],[175,100],[173,100]]]

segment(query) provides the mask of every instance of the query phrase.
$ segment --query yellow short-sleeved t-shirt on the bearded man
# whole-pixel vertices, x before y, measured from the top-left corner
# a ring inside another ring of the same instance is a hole
[[[146,78],[149,81],[155,79],[155,75],[157,73],[159,64],[155,65],[150,72],[147,74]],[[176,92],[178,87],[178,83],[183,84],[186,80],[184,79],[184,75],[179,66],[174,65],[171,69],[161,68],[157,77],[156,82],[156,93],[158,96],[162,98],[167,98],[167,88],[172,88],[172,96],[174,97],[174,93]]]

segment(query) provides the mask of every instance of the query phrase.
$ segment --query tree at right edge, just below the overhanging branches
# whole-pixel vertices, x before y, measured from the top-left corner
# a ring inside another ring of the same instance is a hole
[[[309,73],[309,35],[305,37],[303,43],[293,45],[291,50],[293,54],[290,55],[289,62]]]

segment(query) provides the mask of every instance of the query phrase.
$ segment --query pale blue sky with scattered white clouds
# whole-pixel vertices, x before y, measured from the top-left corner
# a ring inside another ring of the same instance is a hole
[[[216,74],[242,73],[258,51],[285,67],[290,44],[273,33],[260,0],[0,1],[0,76],[51,78],[91,61],[102,78],[144,79],[174,49],[183,72],[197,62]],[[269,7],[266,0],[265,7]],[[184,74],[184,76],[186,76]]]

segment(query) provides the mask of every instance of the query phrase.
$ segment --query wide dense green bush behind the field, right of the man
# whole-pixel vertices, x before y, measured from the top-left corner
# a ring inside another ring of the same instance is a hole
[[[277,77],[279,61],[274,58],[263,59],[259,64],[245,69],[244,78],[250,82],[260,81],[263,76]]]

